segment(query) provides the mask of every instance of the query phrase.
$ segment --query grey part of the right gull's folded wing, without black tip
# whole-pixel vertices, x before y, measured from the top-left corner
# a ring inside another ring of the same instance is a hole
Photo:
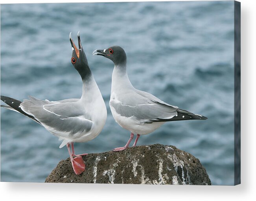
[[[149,121],[170,119],[177,115],[178,107],[168,105],[150,95],[142,91],[129,91],[114,97],[109,104],[121,116],[133,116],[141,123],[152,123]]]

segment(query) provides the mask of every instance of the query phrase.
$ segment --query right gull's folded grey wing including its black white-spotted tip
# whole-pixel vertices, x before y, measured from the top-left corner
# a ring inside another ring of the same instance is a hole
[[[110,106],[120,116],[134,117],[140,123],[207,119],[204,116],[179,109],[177,106],[169,105],[152,94],[139,90],[129,91],[125,96],[116,96],[110,101]]]

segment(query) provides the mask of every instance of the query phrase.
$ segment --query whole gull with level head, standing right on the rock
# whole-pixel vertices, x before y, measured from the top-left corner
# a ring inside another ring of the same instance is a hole
[[[124,147],[114,148],[114,151],[128,148],[134,133],[137,136],[133,147],[136,146],[140,135],[153,132],[166,121],[207,119],[135,89],[126,72],[126,54],[122,47],[112,46],[104,50],[95,50],[93,55],[101,55],[114,62],[109,105],[116,122],[131,132],[127,144]]]

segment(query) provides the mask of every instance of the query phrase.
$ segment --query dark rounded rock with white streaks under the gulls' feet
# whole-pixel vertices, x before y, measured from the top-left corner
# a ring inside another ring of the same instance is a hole
[[[82,174],[74,173],[68,158],[59,162],[45,182],[211,185],[199,159],[174,146],[138,146],[88,154],[83,160]]]

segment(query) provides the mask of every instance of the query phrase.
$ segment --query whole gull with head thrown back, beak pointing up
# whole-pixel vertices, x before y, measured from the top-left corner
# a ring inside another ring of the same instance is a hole
[[[70,33],[71,63],[79,72],[83,81],[83,91],[80,99],[49,101],[29,96],[29,100],[18,101],[1,96],[1,100],[7,104],[1,106],[28,116],[57,136],[59,140],[62,140],[59,148],[66,145],[74,172],[79,175],[85,170],[85,163],[81,156],[87,154],[76,155],[74,142],[86,142],[96,138],[105,125],[107,109],[90,71],[79,32],[77,37],[79,49],[77,49]],[[76,157],[73,158],[73,156]]]

